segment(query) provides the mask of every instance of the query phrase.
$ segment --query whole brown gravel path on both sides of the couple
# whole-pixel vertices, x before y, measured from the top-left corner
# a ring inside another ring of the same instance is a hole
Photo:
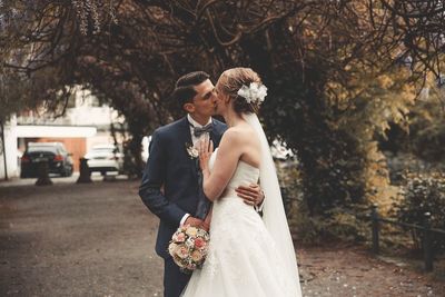
[[[66,181],[66,180],[65,180]],[[157,218],[138,181],[0,186],[0,296],[161,296]],[[304,296],[445,296],[355,247],[299,247]]]

